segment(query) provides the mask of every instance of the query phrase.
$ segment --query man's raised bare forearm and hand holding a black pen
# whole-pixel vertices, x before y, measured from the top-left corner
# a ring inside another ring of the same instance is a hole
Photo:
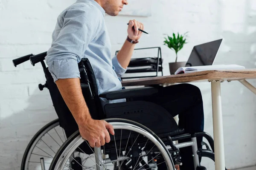
[[[134,28],[133,28],[134,27]],[[139,28],[141,30],[144,30],[144,25],[136,20],[130,20],[129,25],[128,25],[128,37],[131,40],[139,40],[142,32],[139,31]],[[127,68],[130,61],[131,61],[131,56],[134,52],[134,47],[135,44],[132,44],[131,42],[128,42],[128,40],[125,40],[124,45],[122,46],[121,50],[119,53],[116,55],[118,62],[122,66],[122,68]]]

